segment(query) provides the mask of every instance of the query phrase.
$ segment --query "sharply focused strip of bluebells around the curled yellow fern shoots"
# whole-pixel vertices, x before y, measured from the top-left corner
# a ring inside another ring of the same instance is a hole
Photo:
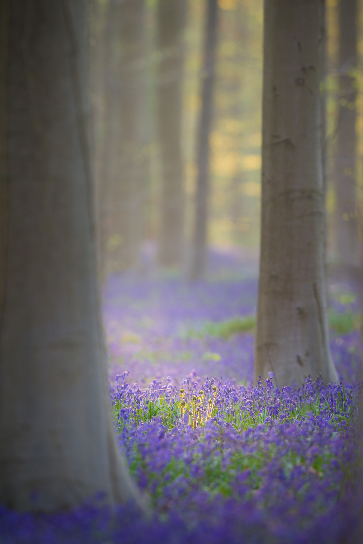
[[[208,414],[218,425],[229,423],[237,431],[268,426],[272,423],[302,423],[307,415],[323,417],[339,431],[347,430],[347,423],[354,408],[354,392],[357,386],[342,383],[324,387],[320,378],[315,382],[307,378],[297,389],[273,385],[268,378],[264,385],[261,380],[256,387],[247,390],[243,385],[236,387],[233,382],[213,378],[200,386],[192,376],[182,381],[177,388],[170,378],[165,384],[153,380],[146,390],[137,384],[124,382],[128,373],[116,376],[122,384],[110,390],[116,422],[119,429],[138,428],[140,424],[162,416],[168,428],[183,426],[183,418],[193,404],[200,408],[200,417],[195,424],[188,419],[188,425],[195,428],[204,425]],[[208,409],[208,404],[213,410]]]

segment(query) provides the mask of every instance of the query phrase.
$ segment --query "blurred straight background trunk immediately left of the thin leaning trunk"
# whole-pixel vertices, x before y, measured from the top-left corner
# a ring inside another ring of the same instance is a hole
[[[183,258],[181,121],[185,10],[185,0],[158,0],[158,128],[163,176],[158,258],[165,266],[180,265]]]

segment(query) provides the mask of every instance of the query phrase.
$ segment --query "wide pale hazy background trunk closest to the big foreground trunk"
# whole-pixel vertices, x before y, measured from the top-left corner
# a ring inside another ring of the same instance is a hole
[[[138,265],[145,196],[144,0],[111,0],[106,28],[103,274]]]

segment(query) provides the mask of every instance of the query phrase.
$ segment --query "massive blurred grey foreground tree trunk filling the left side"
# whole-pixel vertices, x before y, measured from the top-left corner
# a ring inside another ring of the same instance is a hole
[[[106,388],[88,151],[87,2],[2,0],[0,7],[2,32],[9,32],[0,501],[54,510],[97,492],[109,503],[138,500],[116,446]]]

